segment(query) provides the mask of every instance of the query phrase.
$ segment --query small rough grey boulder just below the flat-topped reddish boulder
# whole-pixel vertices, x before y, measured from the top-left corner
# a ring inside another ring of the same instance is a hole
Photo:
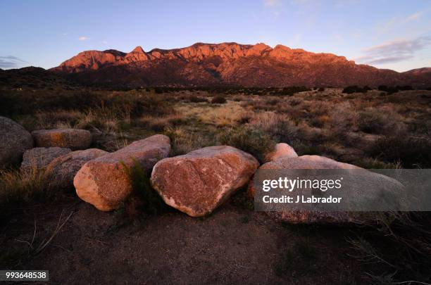
[[[42,170],[51,163],[52,160],[70,153],[70,148],[32,148],[25,151],[21,171]]]

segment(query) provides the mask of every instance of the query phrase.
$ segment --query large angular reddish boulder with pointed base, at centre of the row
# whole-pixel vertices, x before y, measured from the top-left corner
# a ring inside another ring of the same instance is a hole
[[[232,146],[209,146],[159,161],[151,184],[168,205],[201,217],[246,185],[258,165],[256,158]]]

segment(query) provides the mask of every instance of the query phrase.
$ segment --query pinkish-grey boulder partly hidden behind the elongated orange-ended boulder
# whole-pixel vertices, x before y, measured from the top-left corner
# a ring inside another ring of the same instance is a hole
[[[73,178],[82,165],[87,163],[89,160],[99,158],[108,154],[107,151],[102,151],[97,148],[89,148],[85,151],[73,151],[55,158],[46,167],[46,174],[56,183],[56,185],[62,188],[73,187]]]

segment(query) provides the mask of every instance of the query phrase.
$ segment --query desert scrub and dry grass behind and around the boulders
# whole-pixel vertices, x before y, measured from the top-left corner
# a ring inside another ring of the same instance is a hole
[[[2,90],[0,115],[29,131],[87,129],[94,138],[92,147],[105,151],[116,151],[142,137],[165,134],[171,141],[172,156],[204,146],[230,145],[262,163],[276,143],[284,142],[299,156],[317,154],[370,169],[427,168],[431,167],[430,102],[431,91],[408,87],[147,87],[113,91],[30,86]],[[110,231],[135,223],[140,219],[137,217],[172,212],[154,194],[148,175],[139,165],[126,168],[134,194],[113,214]],[[8,167],[1,170],[0,188],[0,203],[7,212],[4,220],[30,201],[70,205],[70,191],[57,191],[43,171],[23,173]],[[244,192],[232,198],[232,205],[242,209],[238,219],[242,225],[257,215],[251,214],[252,203]],[[280,278],[292,270],[299,276],[311,267],[325,270],[320,256],[327,253],[316,243],[342,234],[346,251],[339,254],[356,260],[352,262],[358,262],[355,266],[366,274],[349,277],[349,270],[345,270],[337,277],[340,284],[361,283],[363,279],[374,284],[429,281],[430,224],[430,215],[394,213],[349,231],[324,229],[325,234],[316,233],[320,230],[316,226],[282,225],[301,234],[296,246],[282,247],[273,270]],[[3,235],[0,243],[10,242]],[[33,253],[11,248],[1,253],[0,262],[20,267],[30,262]],[[298,258],[300,262],[294,261]]]

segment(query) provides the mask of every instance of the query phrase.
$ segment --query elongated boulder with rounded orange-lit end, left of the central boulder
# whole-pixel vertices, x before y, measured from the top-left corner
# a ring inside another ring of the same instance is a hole
[[[146,172],[170,153],[170,139],[157,134],[135,141],[82,165],[75,175],[77,196],[99,210],[115,210],[132,192],[127,169],[136,163]]]

